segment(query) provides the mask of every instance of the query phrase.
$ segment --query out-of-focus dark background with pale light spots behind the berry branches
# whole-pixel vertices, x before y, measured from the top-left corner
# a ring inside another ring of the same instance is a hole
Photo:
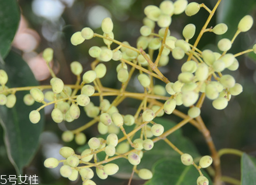
[[[26,23],[28,31],[33,35],[32,40],[22,40],[14,42],[13,50],[23,56],[32,68],[33,73],[41,84],[49,84],[49,74],[46,73],[40,63],[40,53],[44,48],[51,47],[54,49],[54,63],[53,68],[57,76],[63,79],[65,84],[74,84],[75,76],[70,71],[70,63],[72,61],[79,61],[84,67],[84,72],[91,69],[90,64],[93,59],[88,55],[88,49],[94,45],[104,45],[99,38],[85,41],[83,44],[74,47],[70,43],[70,37],[76,31],[80,31],[83,27],[91,27],[95,33],[102,33],[100,28],[101,20],[106,17],[112,17],[114,23],[113,33],[115,39],[119,41],[129,41],[131,45],[136,46],[136,40],[140,36],[139,29],[143,25],[144,18],[143,9],[147,5],[159,5],[160,0],[52,0],[52,3],[44,0],[19,0],[20,11],[23,15],[23,21]],[[56,4],[54,4],[55,2]],[[191,1],[189,1],[191,2]],[[213,8],[216,1],[196,1],[198,3],[205,3],[210,9]],[[1,5],[0,5],[1,6]],[[247,0],[246,3],[240,0],[223,0],[217,9],[216,15],[211,20],[209,26],[215,26],[217,23],[226,23],[229,30],[221,37],[232,38],[237,29],[239,20],[244,15],[252,15],[256,21],[256,2],[254,0]],[[171,35],[177,38],[182,38],[182,29],[188,23],[193,23],[196,26],[196,35],[199,33],[207,16],[206,10],[201,9],[198,14],[192,17],[182,15],[173,16],[172,24],[170,26]],[[33,31],[32,31],[33,30]],[[155,30],[158,31],[158,30]],[[213,33],[205,33],[202,40],[199,42],[199,49],[203,50],[211,48],[217,50],[217,41],[221,38]],[[29,38],[29,37],[27,37]],[[196,38],[196,37],[195,37]],[[191,40],[191,44],[195,42],[195,38]],[[33,47],[25,47],[25,42],[32,42]],[[231,48],[231,52],[244,51],[251,48],[256,42],[256,23],[252,29],[246,33],[241,33]],[[114,47],[113,47],[114,48]],[[26,50],[27,49],[27,50]],[[155,54],[156,58],[157,54]],[[37,57],[37,61],[35,58]],[[33,59],[33,60],[32,60]],[[252,156],[256,156],[256,63],[255,54],[239,56],[238,61],[240,67],[236,72],[231,73],[237,83],[243,85],[244,91],[237,97],[231,98],[229,105],[224,111],[218,111],[212,107],[212,102],[205,100],[202,108],[202,118],[205,120],[206,126],[209,128],[216,144],[217,150],[221,148],[236,148],[247,152]],[[33,62],[32,62],[33,61]],[[38,62],[38,63],[36,63]],[[103,79],[103,85],[107,87],[120,87],[116,83],[115,66],[118,63],[106,63],[108,72]],[[175,61],[170,56],[168,66],[160,67],[162,73],[168,77],[170,81],[176,81],[178,74],[181,72],[181,61]],[[162,84],[161,81],[155,80],[155,83]],[[129,86],[128,90],[137,91],[139,87],[136,82]],[[139,89],[140,91],[140,89]],[[110,97],[111,99],[112,97]],[[92,101],[98,101],[94,98]],[[129,99],[124,101],[122,106],[127,113],[134,113],[138,105],[137,101]],[[180,111],[186,112],[187,109],[179,106]],[[26,107],[23,109],[26,111]],[[86,123],[89,119],[84,114],[73,123],[56,124],[49,115],[49,109],[45,109],[46,124],[44,131],[40,136],[40,147],[34,156],[29,166],[26,166],[24,173],[27,175],[36,174],[39,176],[41,184],[81,184],[81,182],[70,182],[68,179],[60,177],[58,170],[49,170],[44,168],[44,159],[56,156],[58,149],[63,145],[68,145],[72,148],[77,148],[75,142],[64,144],[60,136],[65,129],[75,129],[78,126]],[[167,115],[167,119],[179,122],[176,116]],[[205,140],[190,124],[182,127],[184,135],[191,139],[199,150],[200,154],[209,154]],[[87,137],[98,135],[96,127],[92,127],[85,131]],[[3,130],[0,129],[0,136],[3,135]],[[58,157],[58,156],[56,156]],[[224,155],[222,156],[222,169],[224,175],[229,175],[239,179],[240,177],[240,158],[237,156]],[[9,162],[3,137],[0,137],[0,174],[1,175],[15,175],[15,169]],[[95,181],[97,183],[97,181]],[[138,180],[134,184],[142,184],[143,181]],[[99,181],[99,184],[127,184],[127,180],[116,179],[109,177],[104,182]]]

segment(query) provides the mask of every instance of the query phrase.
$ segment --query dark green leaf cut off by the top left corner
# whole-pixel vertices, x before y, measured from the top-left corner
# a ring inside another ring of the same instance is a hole
[[[0,60],[2,60],[8,54],[18,29],[20,11],[16,0],[0,0],[0,5]]]

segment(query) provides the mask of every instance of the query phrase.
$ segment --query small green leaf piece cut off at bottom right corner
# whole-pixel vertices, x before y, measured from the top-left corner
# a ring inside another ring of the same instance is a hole
[[[241,158],[241,185],[256,184],[256,158],[243,154]]]

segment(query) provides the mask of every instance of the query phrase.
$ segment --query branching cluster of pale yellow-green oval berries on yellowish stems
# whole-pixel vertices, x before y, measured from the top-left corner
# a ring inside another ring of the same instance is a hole
[[[49,63],[54,58],[53,49],[44,50],[43,58],[49,66],[52,78],[49,86],[27,87],[26,90],[29,90],[29,94],[25,95],[23,99],[25,104],[32,105],[34,102],[43,104],[40,108],[30,112],[30,121],[38,123],[40,121],[39,111],[45,106],[54,105],[54,109],[51,111],[51,118],[54,122],[72,122],[79,118],[82,107],[91,121],[78,129],[64,131],[63,141],[75,140],[78,145],[86,144],[87,137],[82,131],[96,123],[99,133],[106,134],[106,139],[89,138],[87,143],[89,148],[84,150],[81,155],[75,154],[70,147],[61,148],[60,154],[65,159],[59,161],[55,158],[48,158],[44,161],[44,166],[56,168],[60,162],[63,162],[63,166],[60,168],[61,175],[72,181],[77,180],[80,175],[83,185],[85,185],[95,184],[91,180],[94,177],[92,167],[96,168],[96,174],[100,179],[106,179],[119,170],[119,166],[112,161],[117,158],[126,158],[134,166],[134,172],[141,179],[151,179],[153,173],[150,170],[137,169],[137,165],[143,158],[143,152],[152,150],[157,141],[175,131],[174,129],[164,130],[164,126],[153,121],[155,117],[173,113],[184,119],[177,128],[175,127],[175,129],[179,129],[185,123],[192,122],[193,124],[196,118],[200,118],[200,109],[205,97],[212,100],[214,108],[224,109],[231,95],[238,95],[243,91],[243,87],[236,83],[233,76],[222,73],[226,69],[231,71],[238,69],[239,62],[236,57],[244,52],[238,54],[227,52],[237,35],[251,28],[252,17],[247,15],[240,20],[237,32],[231,40],[223,38],[218,42],[219,51],[210,49],[200,51],[196,47],[203,33],[209,31],[214,34],[224,34],[227,31],[227,25],[220,23],[206,29],[207,24],[205,24],[206,26],[200,31],[193,45],[189,43],[189,40],[195,36],[194,24],[184,27],[182,31],[184,38],[174,37],[169,30],[172,16],[183,12],[187,16],[193,16],[199,12],[200,8],[205,8],[211,13],[208,18],[210,20],[214,11],[209,10],[204,4],[196,2],[163,1],[159,7],[147,6],[144,9],[146,17],[143,19],[144,25],[140,28],[141,36],[137,40],[136,47],[132,47],[127,41],[115,40],[113,22],[110,17],[102,20],[102,35],[94,33],[89,27],[77,31],[71,37],[73,45],[82,44],[94,37],[102,38],[105,45],[102,47],[92,46],[89,49],[88,54],[95,58],[95,61],[92,62],[92,69],[84,74],[82,74],[81,63],[74,61],[70,64],[71,72],[77,76],[77,82],[72,85],[64,84],[63,80],[56,77],[50,68]],[[113,48],[115,44],[117,46]],[[256,53],[256,45],[247,50],[247,52],[251,51]],[[157,52],[157,58],[153,58],[154,52]],[[168,65],[171,56],[175,60],[181,61],[184,61],[186,57],[177,80],[167,79],[158,68]],[[118,62],[116,76],[117,80],[122,83],[120,89],[102,86],[101,79],[107,72],[104,63],[109,61]],[[131,79],[137,80],[141,88],[144,89],[144,93],[126,90]],[[8,75],[4,70],[0,70],[0,105],[12,108],[16,102],[15,93],[19,91],[19,88],[14,90],[6,87],[7,81]],[[158,85],[158,81],[163,81],[166,85]],[[98,105],[91,102],[90,97],[92,96],[99,97]],[[116,96],[116,98],[110,102],[108,96]],[[141,101],[136,113],[124,115],[122,110],[117,108],[125,98]],[[180,105],[188,107],[187,114],[176,109],[176,106]],[[203,124],[201,120],[200,123]],[[132,127],[133,131],[127,133],[125,129],[127,127]],[[120,131],[123,134],[122,138],[117,137]],[[137,134],[139,137],[137,135],[135,137],[136,133],[139,133]],[[207,135],[207,137],[209,136]],[[203,156],[199,161],[199,166],[196,166],[191,155],[179,151],[166,138],[165,141],[181,154],[181,161],[184,165],[194,165],[199,170],[198,185],[209,184],[207,178],[200,172],[200,168],[207,168],[211,165],[213,159],[210,156]],[[97,158],[99,152],[105,152],[106,158],[102,161]]]

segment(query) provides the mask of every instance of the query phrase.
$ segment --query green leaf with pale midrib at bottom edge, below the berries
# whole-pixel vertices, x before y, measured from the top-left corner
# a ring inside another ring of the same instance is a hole
[[[212,184],[210,177],[203,173]],[[153,178],[145,185],[186,185],[196,184],[199,177],[198,171],[193,165],[185,166],[181,163],[180,157],[162,159],[153,166]]]

